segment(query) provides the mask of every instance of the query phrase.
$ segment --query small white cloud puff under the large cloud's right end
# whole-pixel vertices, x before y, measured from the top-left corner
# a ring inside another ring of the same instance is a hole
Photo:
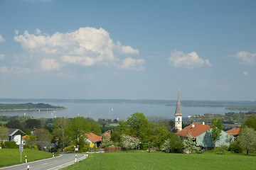
[[[131,57],[128,57],[122,61],[122,63],[119,65],[119,68],[121,69],[134,69],[136,71],[142,71],[145,69],[143,66],[145,61],[143,59],[133,59]]]

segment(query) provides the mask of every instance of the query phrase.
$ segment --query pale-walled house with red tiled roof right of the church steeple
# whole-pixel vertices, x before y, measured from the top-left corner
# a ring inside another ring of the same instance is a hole
[[[192,123],[188,125],[183,130],[177,132],[176,134],[180,137],[188,137],[191,135],[193,139],[196,141],[196,146],[203,147],[203,151],[213,148],[213,137],[211,137],[211,130],[213,127],[211,125],[196,124]],[[228,134],[225,131],[221,131],[220,140],[215,142],[216,147],[220,147],[220,145],[229,146],[230,142],[234,141],[233,135]]]

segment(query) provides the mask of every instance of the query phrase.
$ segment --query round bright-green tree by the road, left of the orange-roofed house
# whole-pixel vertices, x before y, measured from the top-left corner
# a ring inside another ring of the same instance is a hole
[[[80,151],[85,147],[85,133],[90,132],[91,126],[83,117],[76,117],[68,123],[67,132],[73,140],[73,145],[79,145]]]

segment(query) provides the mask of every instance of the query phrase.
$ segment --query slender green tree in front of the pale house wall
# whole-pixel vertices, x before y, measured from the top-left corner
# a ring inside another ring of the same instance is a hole
[[[211,130],[211,137],[213,137],[213,149],[215,149],[216,141],[220,140],[221,131],[223,130],[223,124],[219,118],[213,118],[212,126],[213,126],[213,129]]]

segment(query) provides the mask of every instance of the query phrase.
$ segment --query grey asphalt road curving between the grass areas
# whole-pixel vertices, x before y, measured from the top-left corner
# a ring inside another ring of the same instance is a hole
[[[77,161],[85,159],[85,154],[77,154]],[[70,164],[75,163],[75,154],[60,154],[59,157],[54,157],[50,159],[43,159],[36,162],[28,162],[27,164],[20,164],[15,166],[8,166],[1,168],[1,170],[11,169],[11,170],[53,170],[60,169]]]

